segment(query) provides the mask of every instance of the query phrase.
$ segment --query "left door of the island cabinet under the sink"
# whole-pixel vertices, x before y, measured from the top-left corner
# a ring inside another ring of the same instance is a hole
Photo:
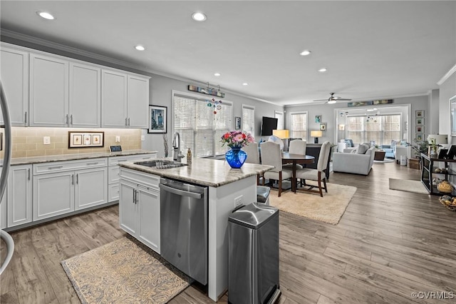
[[[119,221],[120,228],[130,235],[136,235],[138,225],[136,185],[120,179],[120,198],[119,198]]]

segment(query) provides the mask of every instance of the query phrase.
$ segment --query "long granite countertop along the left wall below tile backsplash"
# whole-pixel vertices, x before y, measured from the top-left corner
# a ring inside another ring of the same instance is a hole
[[[53,161],[74,161],[78,159],[99,158],[99,157],[113,157],[113,156],[129,156],[146,153],[157,153],[157,151],[147,150],[128,150],[121,152],[98,152],[98,153],[75,153],[51,156],[33,156],[33,157],[17,157],[11,158],[11,166],[14,165],[28,165],[31,163],[48,163]],[[0,166],[3,164],[3,159],[0,160]]]

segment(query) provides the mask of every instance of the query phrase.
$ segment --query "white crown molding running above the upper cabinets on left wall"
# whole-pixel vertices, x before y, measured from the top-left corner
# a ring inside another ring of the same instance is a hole
[[[175,79],[175,80],[178,80],[178,81],[183,81],[183,82],[188,82],[188,83],[201,83],[201,84],[204,84],[204,85],[206,84],[206,83],[203,83],[202,81],[198,81],[198,80],[195,80],[195,79],[190,79],[190,78],[185,78],[185,77],[182,77],[182,76],[177,76],[177,75],[173,75],[173,74],[163,73],[163,72],[160,72],[160,71],[155,71],[153,69],[147,68],[147,66],[140,66],[138,64],[132,64],[132,63],[130,63],[128,61],[123,61],[123,60],[120,60],[120,59],[114,59],[113,57],[110,57],[110,56],[105,56],[105,55],[93,53],[91,51],[84,51],[82,49],[77,49],[77,48],[74,48],[72,46],[66,46],[64,44],[58,44],[56,42],[48,41],[48,40],[41,39],[41,38],[38,38],[38,37],[33,37],[33,36],[26,35],[26,34],[21,34],[21,33],[18,33],[16,31],[10,31],[8,29],[2,29],[1,30],[1,36],[9,37],[11,39],[16,39],[16,40],[19,40],[19,41],[24,41],[24,42],[27,42],[29,44],[36,44],[38,46],[46,46],[48,48],[56,49],[58,51],[65,51],[65,52],[67,52],[69,54],[74,54],[74,55],[78,55],[78,56],[84,56],[84,57],[88,57],[90,59],[95,59],[97,61],[103,61],[103,62],[107,62],[109,64],[115,64],[115,65],[118,65],[118,66],[123,66],[125,68],[135,69],[135,70],[142,71],[142,72],[145,72],[145,73],[148,73],[148,74],[155,74],[157,76],[163,76],[163,77],[167,77],[167,78],[172,78],[172,79]],[[248,96],[246,94],[239,93],[237,91],[227,90],[225,88],[223,89],[223,91],[227,92],[227,93],[230,93],[230,94],[233,94],[233,95],[236,95],[236,96],[249,98],[249,99],[254,99],[256,101],[261,101],[261,102],[264,102],[264,103],[271,103],[271,104],[274,104],[275,106],[284,106],[284,105],[281,105],[279,103],[274,103],[272,101],[267,101],[265,99],[257,98],[257,97],[254,97],[254,96]]]

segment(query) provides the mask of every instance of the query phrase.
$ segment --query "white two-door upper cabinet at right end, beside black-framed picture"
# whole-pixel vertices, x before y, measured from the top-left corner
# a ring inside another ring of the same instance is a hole
[[[148,128],[149,78],[102,70],[101,126]]]

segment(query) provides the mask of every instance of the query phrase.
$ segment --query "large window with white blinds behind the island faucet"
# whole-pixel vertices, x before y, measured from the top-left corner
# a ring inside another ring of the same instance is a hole
[[[223,101],[214,114],[208,101],[174,96],[174,131],[180,134],[180,150],[192,149],[195,157],[214,156],[227,150],[220,138],[233,128],[232,103]]]

